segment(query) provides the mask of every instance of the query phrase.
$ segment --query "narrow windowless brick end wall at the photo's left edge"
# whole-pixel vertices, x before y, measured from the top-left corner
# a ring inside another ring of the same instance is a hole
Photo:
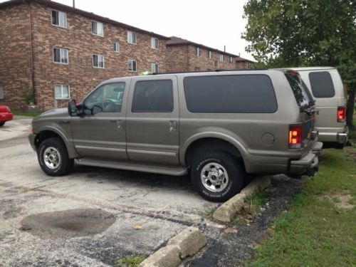
[[[0,9],[0,85],[4,88],[0,104],[11,108],[23,105],[23,90],[32,87],[30,18],[26,4]]]

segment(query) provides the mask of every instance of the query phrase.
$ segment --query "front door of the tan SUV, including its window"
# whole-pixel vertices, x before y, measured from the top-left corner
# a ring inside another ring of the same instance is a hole
[[[127,160],[125,81],[106,83],[83,101],[82,117],[72,117],[75,150],[81,157]]]

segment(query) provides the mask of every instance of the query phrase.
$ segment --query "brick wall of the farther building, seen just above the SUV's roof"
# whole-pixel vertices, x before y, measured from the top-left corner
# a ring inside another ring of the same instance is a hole
[[[224,54],[224,61],[220,61],[220,53],[211,51],[211,58],[209,58],[208,49],[199,49],[199,56],[195,56],[193,45],[167,46],[167,71],[233,70],[236,68],[235,58],[230,63],[230,56]]]

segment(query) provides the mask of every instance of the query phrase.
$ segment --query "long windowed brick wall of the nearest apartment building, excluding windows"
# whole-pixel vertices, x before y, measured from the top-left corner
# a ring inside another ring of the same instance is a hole
[[[166,71],[166,41],[159,39],[159,50],[151,48],[151,37],[136,32],[137,44],[127,43],[127,29],[104,24],[104,36],[91,33],[92,19],[67,12],[67,28],[53,26],[51,8],[33,4],[35,47],[36,100],[43,110],[54,105],[54,85],[70,85],[70,98],[81,100],[103,80],[127,75],[140,75],[151,70],[151,63]],[[120,43],[120,53],[113,51],[113,43]],[[53,63],[53,48],[68,49],[68,65]],[[92,56],[105,56],[105,68],[93,68]],[[137,61],[137,72],[127,68],[128,59]],[[59,100],[58,107],[67,105]]]

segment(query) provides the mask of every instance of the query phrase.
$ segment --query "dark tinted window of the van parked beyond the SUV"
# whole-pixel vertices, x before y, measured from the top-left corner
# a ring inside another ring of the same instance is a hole
[[[335,89],[328,71],[309,73],[310,86],[315,98],[333,98]]]

